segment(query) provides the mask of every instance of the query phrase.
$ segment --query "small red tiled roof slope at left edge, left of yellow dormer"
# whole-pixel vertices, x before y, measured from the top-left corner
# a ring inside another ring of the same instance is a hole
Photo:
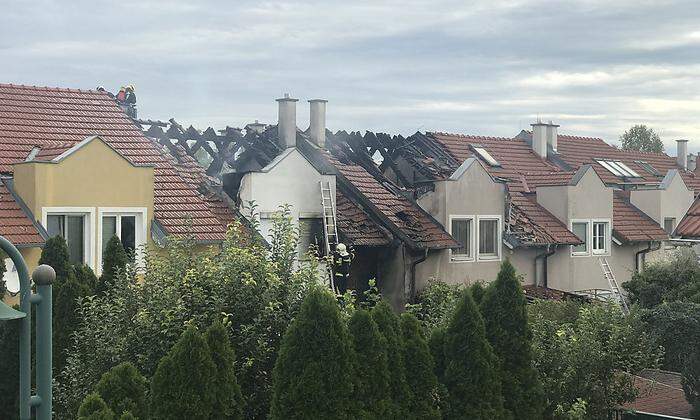
[[[32,220],[32,215],[8,188],[9,180],[0,179],[0,236],[17,247],[41,246],[44,237]]]

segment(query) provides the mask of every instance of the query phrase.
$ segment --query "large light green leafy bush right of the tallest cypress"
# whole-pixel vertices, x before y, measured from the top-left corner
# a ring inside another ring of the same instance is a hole
[[[545,418],[570,418],[585,409],[590,419],[636,398],[627,373],[654,368],[662,350],[636,316],[615,305],[583,305],[571,321],[553,319],[552,303],[529,305],[534,361],[548,405]],[[582,405],[585,403],[585,407]],[[563,417],[562,417],[563,416]]]

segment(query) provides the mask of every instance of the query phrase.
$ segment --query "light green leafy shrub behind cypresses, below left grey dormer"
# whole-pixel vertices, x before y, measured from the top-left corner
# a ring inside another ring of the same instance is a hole
[[[447,327],[463,289],[431,279],[416,296],[416,303],[406,305],[406,311],[418,318],[428,335],[436,328]]]

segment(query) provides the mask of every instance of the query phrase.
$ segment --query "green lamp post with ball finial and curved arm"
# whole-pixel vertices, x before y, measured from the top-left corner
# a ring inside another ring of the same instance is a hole
[[[29,420],[32,407],[36,410],[39,420],[51,419],[52,389],[51,389],[51,300],[52,283],[56,272],[48,265],[40,265],[32,273],[36,284],[36,293],[32,293],[29,282],[29,271],[24,258],[10,241],[0,236],[0,249],[12,259],[19,275],[20,310],[10,308],[0,301],[0,320],[20,320],[22,323],[19,335],[19,418]],[[32,311],[31,305],[36,305],[36,395],[31,395],[31,348],[32,348]]]

